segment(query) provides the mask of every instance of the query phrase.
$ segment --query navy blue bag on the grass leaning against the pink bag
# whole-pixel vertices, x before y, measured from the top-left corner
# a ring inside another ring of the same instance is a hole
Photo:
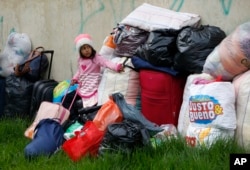
[[[25,147],[24,154],[27,159],[45,155],[51,156],[63,144],[63,128],[53,119],[43,119],[36,126],[33,140]]]

